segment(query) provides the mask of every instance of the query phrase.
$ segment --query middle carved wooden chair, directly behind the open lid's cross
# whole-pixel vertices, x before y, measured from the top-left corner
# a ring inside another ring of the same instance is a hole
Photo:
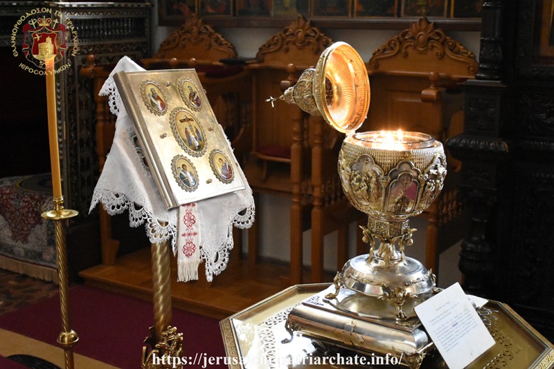
[[[346,235],[355,218],[351,213],[345,215],[348,209],[344,202],[338,203],[343,198],[337,173],[341,133],[330,128],[321,116],[310,116],[295,104],[277,101],[275,108],[271,108],[266,100],[282,95],[283,87],[294,85],[306,68],[315,68],[323,50],[332,44],[330,37],[300,16],[262,45],[256,55],[257,63],[249,66],[255,76],[253,153],[258,160],[249,161],[247,178],[255,190],[292,195],[291,284],[302,283],[303,231],[312,229],[312,281],[322,281],[325,234],[341,229],[337,247],[347,250]],[[251,169],[259,171],[259,168],[252,162],[262,162],[267,168],[272,161],[276,163],[271,164],[267,176],[258,180],[260,176]]]

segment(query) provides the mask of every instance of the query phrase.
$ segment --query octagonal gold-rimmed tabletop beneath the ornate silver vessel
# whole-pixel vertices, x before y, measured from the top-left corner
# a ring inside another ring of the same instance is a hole
[[[229,368],[346,368],[310,366],[310,359],[314,362],[315,358],[323,358],[324,355],[307,337],[298,336],[290,343],[283,343],[283,340],[290,338],[285,329],[289,312],[329,285],[295,285],[222,320],[220,328]],[[496,310],[491,315],[494,318],[491,319],[489,330],[497,344],[469,368],[554,368],[552,343],[521,316],[508,305],[497,301],[490,301],[485,308]],[[291,360],[294,362],[289,366]],[[426,360],[425,367],[432,368],[433,363]]]

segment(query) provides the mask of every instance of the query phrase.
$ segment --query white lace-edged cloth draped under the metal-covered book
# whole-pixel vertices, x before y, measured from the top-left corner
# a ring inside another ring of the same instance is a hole
[[[92,210],[98,202],[110,215],[129,211],[129,225],[145,225],[150,243],[171,240],[173,252],[183,245],[177,245],[178,209],[167,210],[148,167],[143,164],[143,153],[134,144],[134,129],[125,111],[125,106],[112,76],[120,70],[144,70],[128,57],[123,57],[112,70],[100,95],[108,95],[111,113],[118,116],[114,143],[105,162],[100,179],[91,200]],[[229,250],[233,249],[233,225],[244,229],[254,221],[252,191],[242,170],[246,189],[226,193],[215,198],[196,202],[199,229],[199,258],[204,262],[206,279],[220,274],[229,261]],[[168,266],[169,267],[169,266]],[[188,281],[179,271],[179,280]]]

